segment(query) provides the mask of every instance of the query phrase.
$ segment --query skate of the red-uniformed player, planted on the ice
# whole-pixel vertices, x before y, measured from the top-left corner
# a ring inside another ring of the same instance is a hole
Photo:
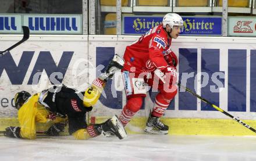
[[[154,117],[150,114],[144,131],[149,134],[168,134],[169,127],[159,119],[159,117]]]

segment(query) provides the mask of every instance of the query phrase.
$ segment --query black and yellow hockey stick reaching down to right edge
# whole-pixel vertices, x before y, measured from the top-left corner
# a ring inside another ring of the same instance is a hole
[[[187,92],[189,92],[190,94],[192,94],[192,95],[196,96],[197,98],[201,99],[203,102],[207,103],[208,105],[211,105],[213,108],[215,108],[215,109],[218,110],[219,112],[224,113],[226,116],[231,117],[233,120],[237,121],[238,123],[242,124],[244,127],[249,128],[251,131],[253,131],[254,133],[256,133],[256,130],[255,130],[253,127],[248,126],[248,124],[243,123],[243,121],[241,121],[241,120],[237,119],[236,117],[230,115],[229,113],[225,112],[225,110],[223,110],[223,109],[219,108],[218,106],[214,105],[214,103],[211,103],[211,102],[209,102],[207,99],[202,98],[200,95],[194,93],[194,92],[191,91],[189,88],[184,87],[184,86],[181,85],[180,83],[177,83],[177,85],[178,85],[179,87],[183,88],[184,90],[186,90]]]

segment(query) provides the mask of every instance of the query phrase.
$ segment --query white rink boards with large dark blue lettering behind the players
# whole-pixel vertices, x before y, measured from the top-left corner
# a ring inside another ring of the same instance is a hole
[[[21,35],[1,35],[1,50],[21,38]],[[0,57],[0,117],[16,117],[12,99],[17,91],[34,93],[51,84],[61,83],[83,91],[115,53],[123,55],[125,47],[137,38],[115,35],[31,35],[27,42]],[[177,70],[180,81],[226,112],[248,120],[245,122],[253,126],[256,120],[255,42],[254,38],[239,37],[179,37],[173,41],[172,50],[179,58]],[[123,89],[119,72],[106,85],[90,116],[100,119],[99,116],[119,115],[126,102]],[[145,123],[156,94],[148,92],[143,108],[131,124]],[[164,117],[173,131],[180,130],[174,134],[219,134],[218,130],[214,131],[216,124],[231,135],[234,133],[231,128],[233,124],[251,134],[223,113],[184,91],[177,94]],[[193,132],[194,128],[198,129],[197,126],[203,132]],[[209,131],[209,127],[212,131]],[[244,135],[244,132],[239,134]]]

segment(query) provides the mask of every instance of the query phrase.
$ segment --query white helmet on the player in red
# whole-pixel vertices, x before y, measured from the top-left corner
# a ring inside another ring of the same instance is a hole
[[[183,20],[180,15],[176,13],[167,13],[163,17],[163,28],[166,27],[166,24],[169,24],[170,28],[173,28],[173,26],[183,26]]]

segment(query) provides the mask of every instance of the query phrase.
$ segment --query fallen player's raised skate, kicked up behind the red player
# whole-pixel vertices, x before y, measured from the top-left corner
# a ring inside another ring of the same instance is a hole
[[[116,70],[123,69],[123,65],[125,64],[125,60],[119,55],[115,55],[111,62],[109,62],[108,67],[106,67],[106,70],[104,73],[99,76],[101,80],[108,80],[109,78],[112,78],[115,74]]]

